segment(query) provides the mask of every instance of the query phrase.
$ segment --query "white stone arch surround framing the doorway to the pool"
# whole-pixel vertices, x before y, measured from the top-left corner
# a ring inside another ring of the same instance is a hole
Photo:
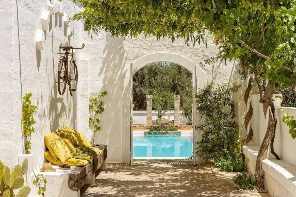
[[[180,54],[176,54],[176,53],[164,53],[164,52],[160,52],[160,53],[153,53],[153,54],[149,54],[149,55],[145,55],[142,57],[137,58],[136,60],[132,61],[130,64],[130,68],[126,70],[126,74],[128,76],[129,73],[129,82],[127,83],[126,89],[129,89],[129,94],[128,96],[130,97],[129,100],[129,109],[130,109],[130,115],[128,117],[123,117],[122,121],[124,121],[124,119],[126,119],[126,121],[128,121],[130,124],[128,124],[127,126],[129,126],[129,129],[125,129],[126,131],[129,131],[129,136],[127,135],[127,133],[125,132],[125,137],[123,137],[123,146],[126,147],[126,150],[129,150],[129,161],[132,164],[132,76],[133,74],[135,74],[139,69],[141,69],[142,67],[146,66],[147,64],[151,64],[151,63],[155,63],[155,62],[170,62],[170,63],[174,63],[174,64],[178,64],[184,68],[186,68],[187,70],[189,70],[192,73],[192,77],[194,79],[193,84],[192,84],[192,89],[193,89],[193,99],[194,99],[194,95],[195,92],[197,91],[198,88],[202,88],[205,86],[206,83],[206,72],[200,68],[200,66],[198,66],[195,62],[193,62],[191,59],[182,56]],[[126,77],[127,77],[126,76]],[[194,109],[194,108],[193,108]],[[124,114],[124,112],[123,112]],[[125,113],[127,114],[127,113]],[[199,114],[198,112],[196,112],[196,110],[194,109],[194,123],[197,123]],[[199,131],[195,130],[195,128],[193,128],[193,141],[197,141],[200,140],[200,135],[199,135]],[[128,138],[129,137],[129,138]],[[128,139],[127,139],[128,138]],[[128,144],[126,144],[126,142],[128,142]],[[195,143],[193,142],[193,150],[195,149]],[[129,148],[127,148],[127,145],[129,145]],[[194,151],[195,152],[195,151]],[[127,158],[124,158],[126,156],[124,156],[127,154],[123,153],[123,161],[126,161]],[[193,159],[193,165],[196,164],[197,160],[199,161],[199,158],[194,158]]]

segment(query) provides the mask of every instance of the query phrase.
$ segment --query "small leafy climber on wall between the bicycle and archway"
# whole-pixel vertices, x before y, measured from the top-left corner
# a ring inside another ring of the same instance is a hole
[[[91,116],[89,117],[89,124],[94,127],[94,132],[101,130],[101,127],[99,126],[100,120],[96,117],[97,115],[102,114],[104,111],[104,102],[101,100],[101,98],[105,95],[107,95],[106,91],[102,92],[96,97],[90,96],[89,111],[91,112]]]

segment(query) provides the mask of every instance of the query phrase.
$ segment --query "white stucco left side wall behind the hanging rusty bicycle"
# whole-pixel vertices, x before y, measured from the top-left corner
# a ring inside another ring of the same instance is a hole
[[[58,61],[55,53],[59,52],[60,43],[68,41],[59,14],[53,14],[47,21],[44,50],[37,51],[35,47],[36,30],[41,29],[41,14],[48,4],[49,1],[1,2],[0,19],[4,28],[1,26],[0,30],[3,46],[0,48],[0,159],[11,168],[18,163],[18,155],[23,154],[20,119],[22,97],[26,93],[33,93],[32,104],[38,106],[34,115],[36,133],[30,139],[36,169],[44,162],[44,134],[66,125],[73,128],[77,125],[76,97],[70,97],[68,92],[58,95],[55,83]],[[77,11],[79,7],[71,1],[62,2],[62,13],[73,15]],[[81,25],[78,21],[70,22],[77,44],[80,44]],[[76,55],[79,59],[79,54]]]

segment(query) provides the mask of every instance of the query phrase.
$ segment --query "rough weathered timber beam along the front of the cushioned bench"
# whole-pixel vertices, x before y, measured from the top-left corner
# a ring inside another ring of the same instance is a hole
[[[87,165],[83,167],[76,167],[72,172],[70,172],[68,186],[71,190],[79,191],[92,177],[95,178],[99,174],[97,171],[100,171],[100,167],[104,168],[106,165],[107,145],[101,144],[95,147],[101,150],[101,152],[97,155],[98,167],[94,169],[94,162],[91,161]]]

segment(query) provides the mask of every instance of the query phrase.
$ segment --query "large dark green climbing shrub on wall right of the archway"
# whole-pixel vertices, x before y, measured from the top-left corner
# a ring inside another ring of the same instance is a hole
[[[201,123],[196,129],[202,130],[202,139],[197,141],[197,156],[213,159],[223,155],[225,150],[233,152],[237,144],[237,124],[235,104],[231,94],[239,85],[221,84],[212,90],[213,84],[207,85],[196,93],[197,110],[201,114]],[[205,117],[204,119],[202,119]]]

